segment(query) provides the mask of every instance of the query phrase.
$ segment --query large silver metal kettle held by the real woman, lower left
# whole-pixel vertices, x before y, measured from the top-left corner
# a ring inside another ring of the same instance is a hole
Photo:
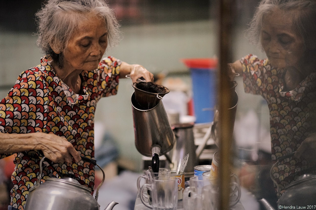
[[[47,178],[44,183],[40,184],[44,158],[45,156],[40,160],[40,174],[36,184],[29,190],[24,210],[100,210],[97,199],[105,174],[95,160],[81,156],[82,160],[98,166],[103,173],[102,182],[98,186],[94,198],[89,188],[82,186],[73,178]],[[112,201],[104,210],[112,210],[116,204],[118,203]]]

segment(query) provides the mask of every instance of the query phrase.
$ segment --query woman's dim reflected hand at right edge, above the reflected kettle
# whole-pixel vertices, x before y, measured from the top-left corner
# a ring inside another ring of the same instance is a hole
[[[316,166],[316,133],[310,134],[297,148],[295,158],[304,158],[311,166]]]

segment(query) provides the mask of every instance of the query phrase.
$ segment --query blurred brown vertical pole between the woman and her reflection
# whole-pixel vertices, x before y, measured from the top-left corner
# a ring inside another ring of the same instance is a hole
[[[234,1],[220,0],[220,57],[219,57],[219,122],[220,122],[220,160],[219,160],[219,209],[229,209],[230,173],[231,173],[231,144],[232,128],[229,127],[231,116],[227,109],[231,104],[232,94],[228,85],[227,63],[232,62],[232,6]]]

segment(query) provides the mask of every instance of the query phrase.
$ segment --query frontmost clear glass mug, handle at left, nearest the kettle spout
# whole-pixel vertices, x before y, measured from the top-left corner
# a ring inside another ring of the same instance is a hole
[[[141,187],[140,195],[144,190],[150,190],[152,204],[149,205],[143,196],[140,200],[143,204],[153,210],[176,210],[178,205],[178,182],[176,179],[167,178],[164,180],[154,178],[150,184]]]

